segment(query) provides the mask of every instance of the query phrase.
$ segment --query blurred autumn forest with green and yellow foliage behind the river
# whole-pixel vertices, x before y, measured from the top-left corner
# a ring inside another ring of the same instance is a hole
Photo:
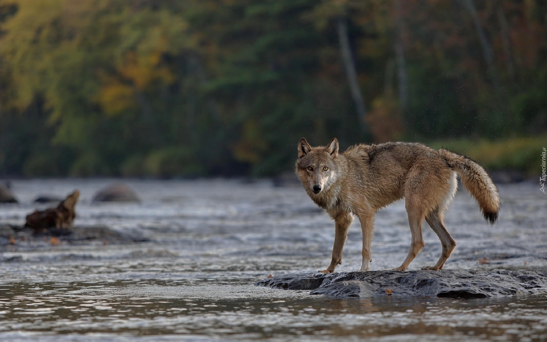
[[[0,176],[276,175],[306,137],[540,172],[547,1],[1,0]]]

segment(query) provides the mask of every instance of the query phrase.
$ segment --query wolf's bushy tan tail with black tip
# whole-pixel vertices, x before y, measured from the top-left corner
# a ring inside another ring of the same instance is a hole
[[[498,219],[501,202],[499,200],[498,188],[496,188],[496,185],[494,185],[494,182],[492,182],[485,169],[464,155],[442,148],[439,152],[445,156],[447,163],[450,164],[452,169],[458,172],[462,178],[463,186],[479,202],[482,216],[490,224],[494,224]]]

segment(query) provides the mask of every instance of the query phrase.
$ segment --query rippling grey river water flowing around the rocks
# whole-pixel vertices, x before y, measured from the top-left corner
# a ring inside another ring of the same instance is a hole
[[[300,187],[269,180],[124,181],[139,204],[92,204],[114,179],[13,181],[20,204],[0,223],[21,225],[38,195],[82,195],[75,225],[144,242],[0,246],[1,341],[474,341],[547,340],[547,294],[497,299],[352,298],[254,286],[269,274],[311,273],[330,261],[334,224]],[[547,196],[537,184],[499,186],[493,227],[460,191],[446,215],[458,246],[445,269],[547,269]],[[371,269],[398,266],[410,245],[404,202],[377,213]],[[438,237],[410,264],[434,264]],[[5,239],[4,239],[5,240]],[[353,224],[336,271],[358,270]]]

